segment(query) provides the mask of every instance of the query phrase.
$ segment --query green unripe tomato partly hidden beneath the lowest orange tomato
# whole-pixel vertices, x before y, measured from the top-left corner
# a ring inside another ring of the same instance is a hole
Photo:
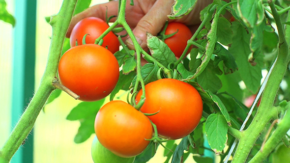
[[[105,148],[95,136],[91,144],[91,157],[94,163],[133,163],[135,157],[123,158]]]

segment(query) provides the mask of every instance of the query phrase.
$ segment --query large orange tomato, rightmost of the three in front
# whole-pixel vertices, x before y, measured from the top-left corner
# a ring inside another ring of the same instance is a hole
[[[157,126],[160,136],[178,139],[190,134],[199,124],[203,101],[190,84],[175,79],[161,79],[145,85],[144,113],[156,113],[148,118]],[[140,101],[142,90],[136,97]]]

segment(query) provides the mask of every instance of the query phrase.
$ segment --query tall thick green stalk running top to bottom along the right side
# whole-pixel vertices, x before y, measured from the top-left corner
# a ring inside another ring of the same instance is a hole
[[[277,10],[275,9],[274,3],[269,1],[269,5],[271,7],[279,33],[278,58],[265,86],[260,107],[257,110],[252,123],[248,129],[244,131],[244,136],[239,140],[232,163],[244,163],[246,161],[254,143],[260,136],[260,133],[265,129],[267,123],[272,119],[272,117],[274,117],[275,114],[278,114],[276,109],[272,109],[272,106],[274,104],[274,99],[276,97],[277,90],[279,89],[279,85],[287,69],[289,47],[286,42],[283,26]]]

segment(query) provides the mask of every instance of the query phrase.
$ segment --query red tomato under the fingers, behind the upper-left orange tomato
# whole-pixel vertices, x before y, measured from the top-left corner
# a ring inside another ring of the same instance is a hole
[[[86,43],[93,44],[95,40],[109,28],[109,25],[100,18],[88,17],[76,24],[70,34],[70,47],[83,45],[83,37],[86,36]],[[103,47],[108,47],[108,50],[113,54],[119,50],[119,41],[117,36],[111,31],[104,38]]]

